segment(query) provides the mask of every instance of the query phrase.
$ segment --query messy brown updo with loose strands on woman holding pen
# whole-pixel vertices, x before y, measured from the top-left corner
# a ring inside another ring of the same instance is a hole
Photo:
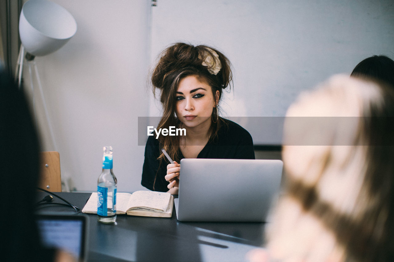
[[[216,54],[215,54],[216,53]],[[218,60],[217,60],[218,59]],[[212,61],[211,65],[203,65],[204,61]],[[210,70],[221,65],[217,74],[211,74]],[[178,42],[166,48],[160,55],[159,61],[152,72],[153,93],[159,89],[160,102],[163,105],[163,116],[158,124],[159,128],[168,128],[169,126],[180,126],[180,121],[175,117],[175,97],[180,80],[187,76],[195,76],[199,81],[206,83],[212,88],[212,94],[216,98],[216,91],[219,91],[217,103],[219,102],[222,90],[230,86],[232,82],[232,73],[230,61],[225,55],[217,49],[205,45],[193,46]],[[216,110],[212,110],[212,121],[210,128],[211,138],[217,135],[223,121],[218,116]],[[161,147],[166,149],[173,160],[179,161],[178,149],[180,137],[162,136],[159,141]],[[170,146],[171,145],[171,146]],[[159,159],[163,157],[160,155]]]

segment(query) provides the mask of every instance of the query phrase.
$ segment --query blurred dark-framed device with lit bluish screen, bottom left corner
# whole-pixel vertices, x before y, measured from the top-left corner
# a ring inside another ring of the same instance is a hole
[[[85,215],[37,215],[41,240],[46,247],[68,251],[87,261],[88,218]]]

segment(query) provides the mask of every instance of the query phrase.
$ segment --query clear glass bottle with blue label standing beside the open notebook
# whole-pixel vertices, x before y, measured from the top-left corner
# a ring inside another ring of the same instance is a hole
[[[112,146],[104,146],[102,172],[97,180],[97,221],[113,223],[116,221],[117,179],[113,174]]]

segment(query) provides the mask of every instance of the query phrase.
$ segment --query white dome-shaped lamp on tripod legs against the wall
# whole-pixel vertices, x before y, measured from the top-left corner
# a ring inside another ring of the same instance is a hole
[[[15,70],[15,81],[18,79],[18,87],[20,87],[23,66],[26,63],[28,65],[30,85],[33,93],[34,110],[32,68],[34,69],[45,109],[46,121],[48,122],[56,151],[52,125],[49,121],[41,80],[34,58],[35,56],[50,54],[61,48],[76,33],[76,28],[74,17],[64,7],[56,3],[47,0],[29,0],[22,6],[19,17],[19,36],[22,44],[20,45],[18,63]]]

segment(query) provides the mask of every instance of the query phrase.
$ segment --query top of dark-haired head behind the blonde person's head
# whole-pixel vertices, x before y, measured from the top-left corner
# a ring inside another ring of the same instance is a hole
[[[362,60],[350,75],[385,82],[394,88],[394,61],[385,55],[373,55]]]

